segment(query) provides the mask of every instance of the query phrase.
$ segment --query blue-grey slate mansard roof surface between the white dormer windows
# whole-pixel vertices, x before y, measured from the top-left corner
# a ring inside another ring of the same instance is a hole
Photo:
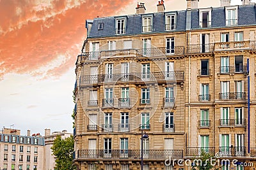
[[[186,31],[187,11],[183,10],[183,11],[174,11],[174,12],[177,13],[175,31]],[[255,6],[253,5],[238,6],[237,12],[238,12],[238,18],[237,18],[238,26],[256,24]],[[143,15],[145,14],[124,16],[127,22],[124,35],[145,34],[142,32]],[[151,13],[148,15],[153,16],[153,28],[152,28],[152,32],[150,33],[165,32],[164,31],[165,13]],[[116,20],[115,17],[95,18],[93,20],[90,34],[87,35],[88,38],[116,36],[115,20]],[[92,20],[90,20],[90,22],[92,22]],[[98,30],[99,23],[104,24],[102,30]],[[191,11],[190,24],[191,24],[190,29],[200,29],[199,10]],[[212,11],[211,11],[211,28],[218,28],[218,27],[227,27],[224,7],[212,8]],[[147,33],[147,34],[150,34],[150,33]]]

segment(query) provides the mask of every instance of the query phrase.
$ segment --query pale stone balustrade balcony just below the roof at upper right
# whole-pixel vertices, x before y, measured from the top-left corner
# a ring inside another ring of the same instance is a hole
[[[215,51],[223,50],[246,50],[250,49],[250,41],[232,41],[232,42],[218,42],[214,43]]]

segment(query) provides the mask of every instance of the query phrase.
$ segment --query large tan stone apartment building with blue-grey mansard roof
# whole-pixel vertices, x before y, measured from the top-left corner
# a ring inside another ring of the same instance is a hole
[[[143,169],[190,169],[166,159],[202,150],[240,162],[223,170],[256,164],[255,4],[186,3],[86,20],[74,90],[78,169],[141,169],[141,157]]]

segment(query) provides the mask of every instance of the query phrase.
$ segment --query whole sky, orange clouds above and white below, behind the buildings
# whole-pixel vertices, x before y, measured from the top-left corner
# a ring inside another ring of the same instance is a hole
[[[157,0],[0,0],[0,130],[13,125],[24,135],[28,129],[72,132],[85,20],[132,15],[138,2],[145,3],[146,13],[157,11]],[[165,0],[164,6],[186,10],[186,0]],[[199,2],[200,8],[211,6],[220,0]]]

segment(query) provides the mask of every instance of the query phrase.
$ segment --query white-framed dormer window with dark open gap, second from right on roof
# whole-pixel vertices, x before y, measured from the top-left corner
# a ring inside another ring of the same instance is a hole
[[[211,9],[200,10],[199,21],[201,28],[211,27]]]

